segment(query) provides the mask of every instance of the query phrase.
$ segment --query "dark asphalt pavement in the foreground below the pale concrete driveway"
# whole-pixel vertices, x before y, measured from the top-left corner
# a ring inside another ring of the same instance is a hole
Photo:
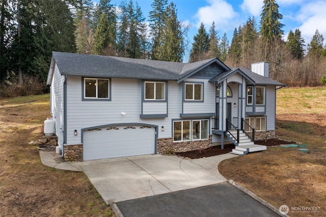
[[[116,204],[124,217],[279,216],[228,182]]]

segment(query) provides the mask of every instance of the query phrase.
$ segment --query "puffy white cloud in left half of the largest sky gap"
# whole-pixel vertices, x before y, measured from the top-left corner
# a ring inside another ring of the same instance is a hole
[[[195,18],[198,20],[196,26],[204,23],[209,28],[214,21],[216,29],[227,32],[233,30],[238,25],[236,21],[238,13],[236,13],[232,6],[226,0],[209,0],[208,6],[198,9]]]

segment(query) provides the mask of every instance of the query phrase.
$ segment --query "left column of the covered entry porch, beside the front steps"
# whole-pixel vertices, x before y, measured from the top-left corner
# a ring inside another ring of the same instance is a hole
[[[219,114],[219,129],[221,131],[226,131],[226,110],[227,110],[227,80],[224,80],[220,85],[220,96],[219,96],[219,106],[220,106],[220,114]]]

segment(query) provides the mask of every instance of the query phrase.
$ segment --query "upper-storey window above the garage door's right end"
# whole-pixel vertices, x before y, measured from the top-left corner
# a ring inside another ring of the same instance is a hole
[[[145,82],[145,100],[165,100],[165,82]]]

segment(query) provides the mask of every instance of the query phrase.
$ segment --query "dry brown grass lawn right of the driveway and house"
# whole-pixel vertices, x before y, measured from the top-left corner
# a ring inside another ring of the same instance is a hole
[[[308,144],[310,152],[268,147],[223,161],[221,174],[277,208],[287,205],[290,216],[326,216],[325,101],[326,88],[278,90],[276,134]],[[318,211],[298,210],[311,207]]]

